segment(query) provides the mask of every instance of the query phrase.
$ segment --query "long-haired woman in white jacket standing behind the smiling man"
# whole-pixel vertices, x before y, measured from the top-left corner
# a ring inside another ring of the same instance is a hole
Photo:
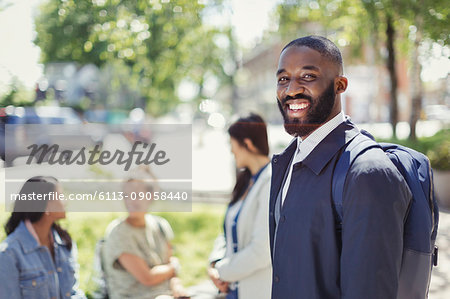
[[[222,297],[269,299],[271,167],[266,124],[259,115],[250,114],[233,123],[228,133],[239,172],[225,214],[224,235],[216,239],[208,274]]]

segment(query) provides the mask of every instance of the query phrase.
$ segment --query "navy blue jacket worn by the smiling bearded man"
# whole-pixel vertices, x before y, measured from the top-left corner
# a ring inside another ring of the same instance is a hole
[[[332,174],[340,151],[357,133],[350,121],[342,123],[294,165],[277,228],[276,199],[296,143],[273,156],[273,299],[396,298],[411,193],[382,150],[368,150],[349,170],[342,233],[336,232]]]

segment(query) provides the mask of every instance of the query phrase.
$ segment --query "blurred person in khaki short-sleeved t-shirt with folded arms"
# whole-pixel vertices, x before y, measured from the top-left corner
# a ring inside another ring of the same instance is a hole
[[[124,183],[128,216],[106,230],[101,255],[111,299],[189,298],[176,277],[179,262],[172,256],[172,228],[164,218],[147,214],[150,201],[141,197],[155,191],[155,184],[143,180],[150,177],[148,169],[140,169]]]

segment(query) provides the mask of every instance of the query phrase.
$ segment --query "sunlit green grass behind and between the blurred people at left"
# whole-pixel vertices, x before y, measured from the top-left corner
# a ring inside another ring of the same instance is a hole
[[[182,270],[180,278],[185,286],[191,286],[207,279],[206,267],[208,255],[212,250],[214,239],[222,231],[225,205],[193,204],[192,212],[154,213],[167,219],[172,226],[175,239],[174,255],[180,259]],[[94,284],[91,281],[94,249],[97,241],[103,237],[107,225],[124,213],[67,213],[61,221],[78,246],[78,263],[80,264],[80,288],[91,293]],[[9,213],[0,212],[2,225]],[[0,240],[5,232],[0,229]]]

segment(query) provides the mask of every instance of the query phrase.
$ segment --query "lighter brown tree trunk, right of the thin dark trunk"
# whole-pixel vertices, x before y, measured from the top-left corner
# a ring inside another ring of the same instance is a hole
[[[409,139],[416,140],[416,125],[420,118],[420,112],[422,110],[422,80],[420,79],[420,73],[422,72],[422,66],[419,62],[419,46],[422,41],[422,24],[423,18],[420,13],[416,13],[415,24],[417,27],[416,37],[414,39],[414,48],[412,56],[412,69],[411,69],[411,82],[412,82],[412,100],[411,100],[411,117],[409,120]]]

